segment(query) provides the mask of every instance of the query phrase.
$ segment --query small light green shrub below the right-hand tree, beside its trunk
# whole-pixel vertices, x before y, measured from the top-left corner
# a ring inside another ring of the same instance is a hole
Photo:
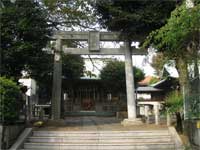
[[[169,113],[181,112],[183,110],[183,96],[178,91],[173,91],[165,98],[166,109]]]

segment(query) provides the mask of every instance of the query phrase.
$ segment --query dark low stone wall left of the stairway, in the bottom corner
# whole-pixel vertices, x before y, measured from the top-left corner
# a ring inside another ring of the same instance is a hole
[[[8,149],[24,130],[24,123],[17,123],[13,125],[0,124],[0,149]]]

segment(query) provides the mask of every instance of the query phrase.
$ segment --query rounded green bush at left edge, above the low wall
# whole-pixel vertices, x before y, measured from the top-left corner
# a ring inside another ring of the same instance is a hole
[[[20,88],[10,79],[0,77],[0,121],[13,122],[22,108]]]

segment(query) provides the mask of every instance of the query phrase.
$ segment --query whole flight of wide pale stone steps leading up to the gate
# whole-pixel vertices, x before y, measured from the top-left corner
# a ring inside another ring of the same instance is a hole
[[[26,150],[175,150],[167,129],[141,131],[33,131]]]

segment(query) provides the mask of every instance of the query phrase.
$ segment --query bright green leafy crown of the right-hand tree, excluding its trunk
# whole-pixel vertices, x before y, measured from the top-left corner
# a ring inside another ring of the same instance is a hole
[[[198,42],[199,24],[200,4],[192,9],[183,4],[172,12],[165,26],[149,34],[143,46],[152,45],[169,58],[187,57],[190,54],[186,49],[188,44]]]

